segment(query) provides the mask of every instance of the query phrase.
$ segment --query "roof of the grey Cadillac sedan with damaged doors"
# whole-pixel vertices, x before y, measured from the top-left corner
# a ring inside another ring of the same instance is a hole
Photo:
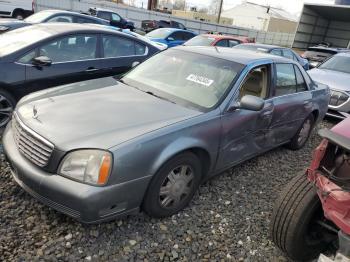
[[[216,47],[216,46],[177,46],[173,49],[183,50],[192,53],[207,55],[211,57],[221,58],[236,62],[239,64],[248,65],[250,63],[256,62],[257,60],[272,60],[273,62],[280,63],[292,63],[297,64],[294,61],[275,56],[266,53],[259,53],[250,50],[234,49],[228,47]]]

